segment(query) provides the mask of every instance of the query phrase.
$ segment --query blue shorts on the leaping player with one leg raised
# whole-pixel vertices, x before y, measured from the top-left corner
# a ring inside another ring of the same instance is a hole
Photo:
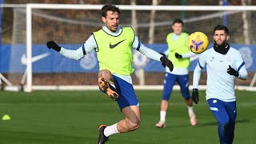
[[[139,106],[138,98],[134,91],[134,86],[122,78],[118,78],[114,74],[112,74],[112,76],[114,78],[116,91],[119,94],[118,106],[120,110],[126,106]]]

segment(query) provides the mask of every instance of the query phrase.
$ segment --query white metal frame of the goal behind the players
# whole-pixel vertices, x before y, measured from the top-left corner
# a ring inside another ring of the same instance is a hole
[[[24,90],[97,90],[98,86],[33,86],[32,83],[32,10],[34,9],[52,9],[52,10],[101,10],[103,5],[77,5],[77,4],[42,4],[29,3],[26,6],[26,86]],[[2,7],[15,7],[14,5],[2,4]],[[151,6],[151,5],[118,5],[121,10],[186,10],[186,11],[242,11],[256,10],[256,6]],[[256,73],[254,74],[256,78]],[[255,80],[254,80],[255,81]],[[206,86],[199,86],[206,89]],[[134,86],[135,89],[162,90],[162,86]],[[238,90],[255,90],[252,86],[236,86]],[[178,89],[178,86],[174,86]]]

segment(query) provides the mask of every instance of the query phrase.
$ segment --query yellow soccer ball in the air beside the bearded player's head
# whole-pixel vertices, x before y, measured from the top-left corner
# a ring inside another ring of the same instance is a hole
[[[195,54],[200,54],[207,50],[208,45],[208,38],[206,34],[203,34],[202,32],[194,32],[190,34],[186,41],[186,46]]]

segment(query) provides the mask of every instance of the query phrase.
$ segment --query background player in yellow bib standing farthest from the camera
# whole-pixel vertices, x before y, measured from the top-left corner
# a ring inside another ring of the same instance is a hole
[[[155,125],[159,128],[164,128],[166,126],[166,111],[169,105],[170,94],[173,90],[175,82],[181,87],[182,96],[186,101],[186,106],[188,108],[188,114],[190,117],[190,124],[195,126],[198,122],[194,110],[193,101],[190,97],[189,91],[189,66],[190,57],[195,54],[190,52],[186,47],[186,40],[189,34],[182,32],[184,23],[181,19],[175,19],[172,24],[173,33],[170,33],[166,37],[166,42],[168,44],[168,50],[166,50],[165,55],[171,62],[174,63],[174,70],[170,71],[166,68],[166,77],[164,80],[164,88],[162,94],[161,110],[160,110],[160,121]]]

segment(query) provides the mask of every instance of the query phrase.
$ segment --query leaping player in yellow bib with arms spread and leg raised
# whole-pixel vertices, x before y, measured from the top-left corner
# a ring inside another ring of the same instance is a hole
[[[47,47],[58,51],[66,58],[78,60],[91,50],[96,50],[99,62],[98,86],[114,101],[124,115],[124,119],[112,126],[98,127],[98,144],[109,140],[109,136],[137,130],[140,126],[140,109],[134,92],[130,74],[133,73],[132,49],[138,50],[148,58],[162,62],[163,66],[173,70],[173,64],[166,57],[142,45],[131,27],[120,27],[120,10],[113,5],[102,7],[104,26],[94,32],[78,50],[66,50],[55,42],[47,42]]]

